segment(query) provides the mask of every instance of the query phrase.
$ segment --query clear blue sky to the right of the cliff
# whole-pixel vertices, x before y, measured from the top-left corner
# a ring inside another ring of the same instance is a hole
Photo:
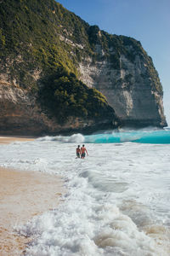
[[[163,86],[170,126],[170,0],[58,0],[89,25],[139,40],[151,56]]]

